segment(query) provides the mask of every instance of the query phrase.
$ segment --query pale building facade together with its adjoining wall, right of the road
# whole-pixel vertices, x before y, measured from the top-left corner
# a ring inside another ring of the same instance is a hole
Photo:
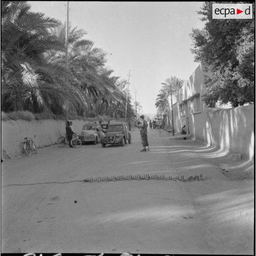
[[[187,134],[207,145],[241,154],[244,158],[254,157],[254,104],[235,108],[218,104],[213,109],[206,107],[202,100],[203,82],[210,74],[204,72],[200,64],[184,83],[178,92],[174,123],[185,124]]]

